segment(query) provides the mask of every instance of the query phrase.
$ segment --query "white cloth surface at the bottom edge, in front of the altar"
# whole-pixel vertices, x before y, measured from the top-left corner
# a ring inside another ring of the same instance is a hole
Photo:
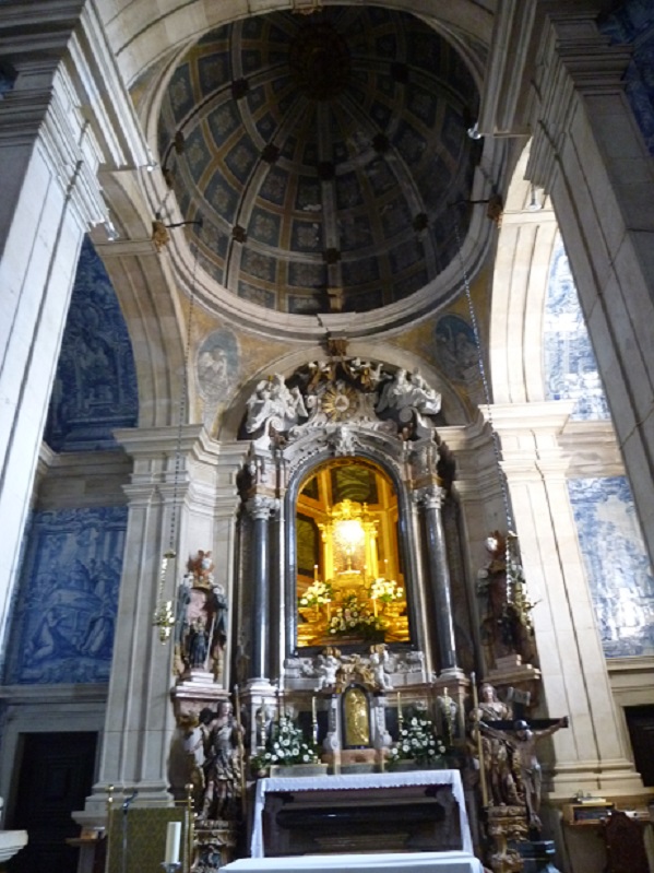
[[[227,873],[483,873],[480,861],[467,852],[385,852],[383,854],[300,854],[285,858],[243,858],[221,870]]]

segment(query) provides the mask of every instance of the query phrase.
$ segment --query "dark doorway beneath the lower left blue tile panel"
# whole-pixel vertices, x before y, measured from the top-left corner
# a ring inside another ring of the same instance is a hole
[[[10,828],[26,830],[28,843],[10,862],[10,873],[75,873],[80,835],[71,813],[91,793],[96,733],[26,733],[21,738],[19,789]]]

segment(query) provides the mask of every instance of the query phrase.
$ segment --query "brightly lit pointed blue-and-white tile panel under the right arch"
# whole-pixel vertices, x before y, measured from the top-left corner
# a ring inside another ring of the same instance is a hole
[[[543,328],[546,398],[574,400],[572,418],[607,418],[606,396],[560,238],[551,259]]]

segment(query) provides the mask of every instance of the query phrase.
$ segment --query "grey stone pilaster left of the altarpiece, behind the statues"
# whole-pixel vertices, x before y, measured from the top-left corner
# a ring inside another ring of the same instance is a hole
[[[104,811],[108,784],[118,794],[138,790],[139,804],[169,802],[174,647],[171,639],[160,642],[153,616],[159,599],[175,603],[189,556],[214,544],[217,446],[197,425],[116,436],[133,471],[124,487],[129,519],[98,781],[86,804],[95,815]],[[177,558],[159,590],[170,546]],[[225,581],[222,562],[216,574]]]

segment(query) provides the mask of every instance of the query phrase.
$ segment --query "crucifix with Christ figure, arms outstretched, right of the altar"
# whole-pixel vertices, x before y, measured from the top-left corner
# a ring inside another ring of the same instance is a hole
[[[488,724],[485,721],[480,721],[479,727],[486,734],[501,740],[515,752],[523,783],[530,828],[540,831],[543,826],[538,813],[540,812],[543,774],[540,771],[540,763],[536,757],[536,744],[546,736],[551,736],[552,733],[556,733],[561,728],[567,728],[568,717],[564,716],[558,721],[543,719],[532,722],[532,727],[539,728],[539,730],[532,730],[530,724],[523,720],[513,722],[512,731],[498,729],[500,727],[503,728],[504,722]]]

